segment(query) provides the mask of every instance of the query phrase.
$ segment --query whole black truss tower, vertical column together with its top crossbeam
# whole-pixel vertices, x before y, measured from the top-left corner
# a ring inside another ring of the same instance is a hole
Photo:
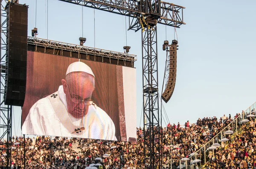
[[[160,0],[60,0],[129,17],[128,30],[142,30],[145,169],[161,168],[157,23],[179,28],[183,8]]]

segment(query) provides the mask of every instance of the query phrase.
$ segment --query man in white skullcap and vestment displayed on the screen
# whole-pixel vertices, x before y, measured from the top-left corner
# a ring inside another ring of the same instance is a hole
[[[58,91],[38,100],[24,121],[24,134],[116,140],[108,114],[91,100],[95,76],[83,62],[69,65]]]

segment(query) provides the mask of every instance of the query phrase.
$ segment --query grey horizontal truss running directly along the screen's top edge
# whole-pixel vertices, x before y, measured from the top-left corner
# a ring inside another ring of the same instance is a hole
[[[64,42],[57,42],[53,40],[48,39],[41,39],[41,38],[35,38],[35,37],[28,37],[28,44],[35,45],[36,48],[38,46],[51,49],[58,49],[61,51],[70,51],[70,54],[72,52],[77,52],[79,54],[87,54],[87,55],[96,55],[101,56],[103,58],[108,59],[117,59],[117,60],[123,60],[124,62],[130,61],[135,62],[137,60],[137,56],[133,54],[124,54],[120,52],[115,51],[108,51],[104,49],[98,49],[98,48],[90,48],[86,46],[80,46],[80,45],[74,45]],[[37,49],[36,49],[37,51]],[[62,55],[62,52],[61,52]]]

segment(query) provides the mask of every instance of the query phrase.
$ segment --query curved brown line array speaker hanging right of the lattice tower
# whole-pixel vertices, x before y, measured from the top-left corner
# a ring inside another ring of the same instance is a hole
[[[172,93],[174,91],[176,82],[176,72],[177,72],[177,40],[172,40],[172,45],[169,45],[169,77],[166,84],[166,88],[162,94],[162,99],[166,103],[171,99]]]

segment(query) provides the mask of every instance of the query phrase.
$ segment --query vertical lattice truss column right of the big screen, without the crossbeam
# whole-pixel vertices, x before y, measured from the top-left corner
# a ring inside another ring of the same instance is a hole
[[[147,23],[148,25],[148,23]],[[145,168],[161,168],[160,118],[157,76],[157,26],[142,30],[143,113]]]

